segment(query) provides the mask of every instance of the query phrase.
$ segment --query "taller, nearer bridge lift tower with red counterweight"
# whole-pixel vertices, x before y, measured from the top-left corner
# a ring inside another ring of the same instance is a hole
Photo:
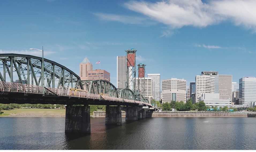
[[[131,89],[136,92],[136,64],[135,64],[135,57],[136,57],[136,49],[127,49],[125,50],[127,54],[127,67],[126,67],[126,88]]]

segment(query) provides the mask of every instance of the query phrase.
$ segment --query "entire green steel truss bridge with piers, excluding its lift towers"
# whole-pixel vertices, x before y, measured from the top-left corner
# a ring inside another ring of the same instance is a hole
[[[128,88],[117,89],[105,80],[81,81],[73,71],[48,59],[44,59],[44,73],[42,66],[40,57],[0,54],[0,103],[65,104],[65,132],[83,133],[90,132],[88,105],[107,105],[106,124],[120,124],[121,109],[127,111],[126,120],[146,118],[152,115],[152,111],[158,110],[139,92],[134,93]],[[87,92],[70,93],[70,88]]]

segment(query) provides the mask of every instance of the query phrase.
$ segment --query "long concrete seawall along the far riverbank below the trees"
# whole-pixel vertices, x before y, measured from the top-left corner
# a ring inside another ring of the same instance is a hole
[[[94,111],[94,117],[105,117],[105,111]],[[122,112],[125,117],[125,112]],[[152,117],[247,117],[245,112],[182,112],[160,111],[153,112]]]

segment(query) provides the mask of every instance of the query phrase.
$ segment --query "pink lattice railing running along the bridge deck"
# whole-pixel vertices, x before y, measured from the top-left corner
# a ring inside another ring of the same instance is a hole
[[[4,81],[0,81],[0,82],[1,82],[0,83],[1,91],[19,92],[19,93],[24,93],[24,94],[27,94],[27,93],[43,94],[43,86],[27,85],[27,84],[4,82]],[[45,87],[45,88],[48,89],[48,90],[45,89],[45,93],[50,93],[50,94],[54,93],[58,96],[68,96],[68,97],[87,98],[87,99],[101,99],[101,100],[106,100],[106,101],[127,102],[127,103],[138,103],[138,104],[144,104],[144,105],[153,107],[149,103],[135,101],[135,100],[109,97],[106,95],[104,97],[102,97],[99,94],[91,94],[91,93],[86,93],[86,92],[70,93],[69,90],[58,89],[58,88],[50,88],[50,87]]]

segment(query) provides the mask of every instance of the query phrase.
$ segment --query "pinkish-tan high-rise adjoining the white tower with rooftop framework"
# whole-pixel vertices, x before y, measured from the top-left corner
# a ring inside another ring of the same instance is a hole
[[[232,99],[232,75],[219,75],[220,99]]]

